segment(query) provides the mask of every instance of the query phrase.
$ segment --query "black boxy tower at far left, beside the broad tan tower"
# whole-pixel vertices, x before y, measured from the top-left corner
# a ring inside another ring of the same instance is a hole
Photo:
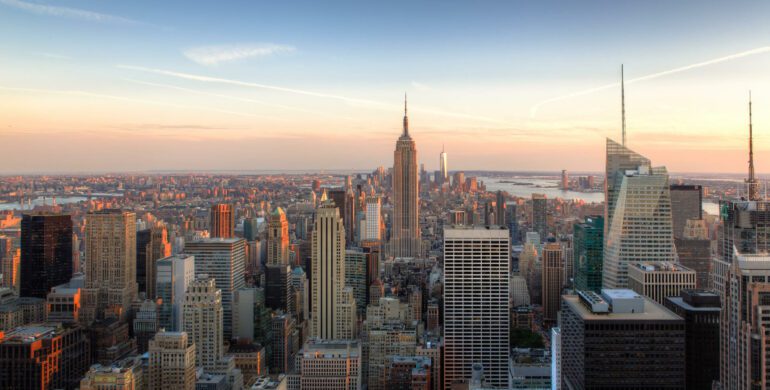
[[[45,298],[52,287],[69,282],[72,277],[72,218],[69,215],[24,214],[19,273],[23,297]],[[8,277],[13,279],[14,275],[9,273]]]

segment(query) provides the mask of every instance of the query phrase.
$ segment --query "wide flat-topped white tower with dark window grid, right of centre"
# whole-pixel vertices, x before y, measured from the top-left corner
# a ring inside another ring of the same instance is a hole
[[[490,384],[508,386],[510,239],[503,227],[444,229],[444,383],[484,365]]]

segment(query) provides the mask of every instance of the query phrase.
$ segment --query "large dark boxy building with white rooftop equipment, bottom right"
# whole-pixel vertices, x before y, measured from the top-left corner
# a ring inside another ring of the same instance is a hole
[[[562,302],[562,388],[685,388],[681,317],[627,289],[578,291]]]

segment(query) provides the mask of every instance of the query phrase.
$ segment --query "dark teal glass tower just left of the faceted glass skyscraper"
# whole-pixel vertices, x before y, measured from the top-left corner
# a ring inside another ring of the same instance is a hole
[[[576,223],[573,237],[575,289],[599,293],[604,262],[604,218],[590,216],[585,222]]]

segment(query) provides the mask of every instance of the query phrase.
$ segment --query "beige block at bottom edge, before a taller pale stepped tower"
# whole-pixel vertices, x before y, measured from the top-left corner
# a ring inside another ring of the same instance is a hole
[[[158,332],[150,340],[148,390],[195,389],[195,344],[185,332]]]

